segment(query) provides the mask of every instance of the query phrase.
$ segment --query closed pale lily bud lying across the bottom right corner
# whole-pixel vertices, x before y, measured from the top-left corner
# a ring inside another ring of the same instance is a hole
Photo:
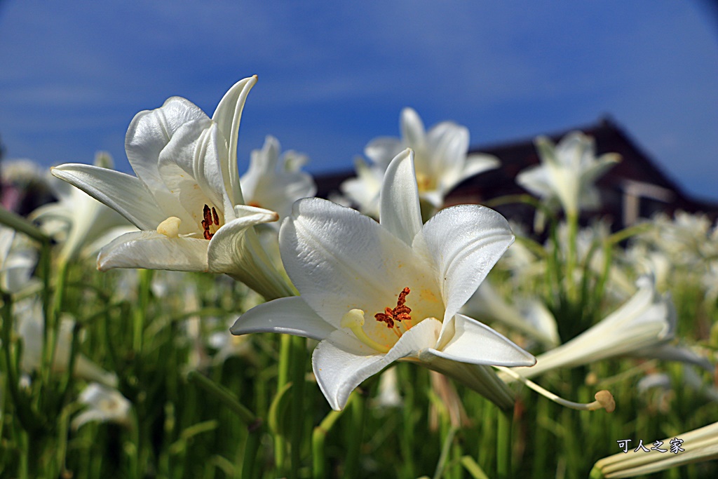
[[[679,442],[678,442],[679,441]],[[718,422],[708,426],[681,432],[661,441],[664,454],[618,452],[598,460],[591,472],[592,478],[633,478],[661,470],[677,468],[679,465],[713,460],[718,457]],[[681,450],[669,450],[678,444]],[[651,444],[646,441],[645,444]]]

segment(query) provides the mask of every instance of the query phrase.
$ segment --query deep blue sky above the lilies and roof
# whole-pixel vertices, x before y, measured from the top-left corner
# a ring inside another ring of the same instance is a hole
[[[274,134],[312,172],[350,169],[404,106],[472,144],[605,114],[687,192],[718,199],[718,18],[700,0],[0,0],[6,158],[130,171],[138,111],[184,96],[210,115],[257,74],[240,171]]]

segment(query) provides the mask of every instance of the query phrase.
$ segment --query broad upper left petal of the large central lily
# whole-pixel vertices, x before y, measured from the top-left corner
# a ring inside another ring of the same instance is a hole
[[[354,308],[372,313],[396,304],[396,294],[406,287],[403,277],[434,286],[429,266],[403,241],[357,210],[320,198],[294,203],[279,245],[294,286],[335,327]]]

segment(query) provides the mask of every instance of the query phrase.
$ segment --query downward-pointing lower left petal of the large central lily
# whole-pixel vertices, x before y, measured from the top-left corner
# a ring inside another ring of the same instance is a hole
[[[338,411],[366,378],[400,358],[418,355],[421,350],[430,348],[436,343],[440,329],[439,321],[426,319],[405,332],[386,354],[369,350],[345,331],[337,330],[314,349],[314,376],[332,409]]]

